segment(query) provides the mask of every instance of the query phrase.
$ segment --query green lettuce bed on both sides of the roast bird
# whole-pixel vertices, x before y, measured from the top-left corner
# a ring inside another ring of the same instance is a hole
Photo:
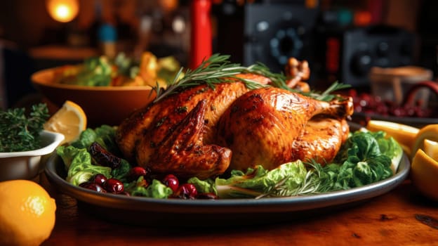
[[[136,181],[128,178],[131,164],[122,159],[117,169],[92,164],[88,148],[94,141],[112,153],[119,153],[114,141],[115,128],[102,125],[86,129],[80,138],[67,147],[60,146],[67,171],[67,181],[79,185],[94,174],[104,174],[124,182],[131,195],[149,198],[168,198],[171,188],[157,180],[148,183],[143,177]],[[215,193],[219,198],[265,198],[291,195],[309,195],[365,186],[392,176],[403,155],[401,146],[384,132],[356,131],[350,134],[335,159],[324,166],[310,161],[288,162],[267,170],[259,165],[246,171],[232,170],[228,177],[200,180],[192,177],[198,193]]]

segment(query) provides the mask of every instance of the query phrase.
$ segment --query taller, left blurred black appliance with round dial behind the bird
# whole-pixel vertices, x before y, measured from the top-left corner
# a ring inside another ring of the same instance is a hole
[[[243,65],[263,63],[273,72],[284,71],[289,57],[308,60],[314,56],[313,30],[318,8],[305,1],[254,1],[239,6],[223,1],[213,6],[217,34],[213,52],[229,54]]]

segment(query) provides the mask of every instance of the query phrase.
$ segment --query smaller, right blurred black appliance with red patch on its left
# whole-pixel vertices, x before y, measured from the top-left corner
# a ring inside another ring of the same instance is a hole
[[[416,35],[397,27],[373,25],[329,30],[319,26],[315,35],[318,86],[338,81],[369,90],[371,67],[414,65]],[[312,69],[312,67],[311,67]]]

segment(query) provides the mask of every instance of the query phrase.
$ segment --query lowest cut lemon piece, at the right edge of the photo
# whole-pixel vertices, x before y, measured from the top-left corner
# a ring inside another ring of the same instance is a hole
[[[427,198],[438,201],[438,162],[422,149],[416,151],[411,165],[411,180]]]

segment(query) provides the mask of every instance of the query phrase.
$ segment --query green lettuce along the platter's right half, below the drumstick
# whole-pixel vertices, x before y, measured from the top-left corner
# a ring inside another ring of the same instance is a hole
[[[401,146],[384,134],[356,131],[333,162],[324,165],[300,160],[267,170],[263,166],[231,171],[230,178],[201,181],[189,179],[202,192],[219,198],[263,198],[308,195],[346,190],[387,179],[393,175],[392,162],[399,162]]]

